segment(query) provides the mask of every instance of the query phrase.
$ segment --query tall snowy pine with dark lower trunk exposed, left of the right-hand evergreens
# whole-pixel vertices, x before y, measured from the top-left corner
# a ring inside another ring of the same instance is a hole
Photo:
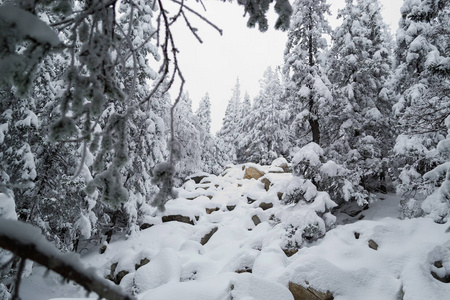
[[[321,128],[326,127],[322,107],[331,101],[328,79],[320,65],[326,49],[324,37],[331,30],[325,18],[329,5],[325,0],[297,0],[293,7],[283,69],[288,78],[291,128],[298,146],[309,141],[320,144]],[[308,132],[311,139],[306,138]]]

